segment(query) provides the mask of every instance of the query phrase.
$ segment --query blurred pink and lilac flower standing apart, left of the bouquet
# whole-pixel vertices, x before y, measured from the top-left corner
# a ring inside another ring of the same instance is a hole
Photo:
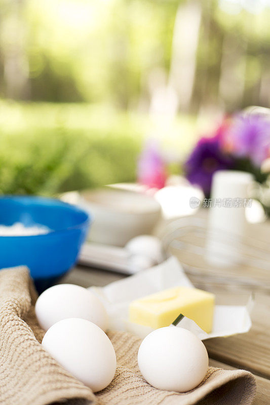
[[[166,182],[165,161],[155,140],[148,140],[138,159],[137,177],[149,188],[162,188]]]

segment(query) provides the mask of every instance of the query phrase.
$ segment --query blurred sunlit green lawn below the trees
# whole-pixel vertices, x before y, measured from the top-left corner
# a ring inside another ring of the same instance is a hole
[[[147,115],[104,105],[1,101],[0,193],[54,195],[133,181],[146,136],[158,136],[173,160],[194,144],[194,118],[177,117],[163,127]]]

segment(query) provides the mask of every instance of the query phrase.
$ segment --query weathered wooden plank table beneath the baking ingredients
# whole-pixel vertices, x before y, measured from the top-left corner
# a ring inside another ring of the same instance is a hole
[[[270,221],[253,224],[251,232],[268,241]],[[250,274],[249,274],[250,275]],[[254,273],[254,277],[257,275]],[[265,280],[270,278],[267,271]],[[62,280],[83,287],[105,286],[119,280],[125,275],[101,269],[76,266]],[[243,304],[252,293],[254,307],[251,311],[252,328],[246,334],[226,338],[214,338],[205,341],[210,357],[210,365],[223,369],[245,369],[251,371],[257,381],[257,394],[254,405],[270,404],[270,291],[265,288],[248,286],[223,286],[215,282],[204,282],[204,277],[189,275],[190,280],[198,288],[205,288],[216,294],[217,300],[229,304]],[[237,404],[236,404],[237,405]]]

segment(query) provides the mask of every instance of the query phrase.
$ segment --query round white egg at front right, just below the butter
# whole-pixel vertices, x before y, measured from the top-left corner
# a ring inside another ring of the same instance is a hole
[[[186,329],[169,326],[147,335],[138,352],[144,379],[153,387],[186,392],[203,380],[208,354],[203,342]]]

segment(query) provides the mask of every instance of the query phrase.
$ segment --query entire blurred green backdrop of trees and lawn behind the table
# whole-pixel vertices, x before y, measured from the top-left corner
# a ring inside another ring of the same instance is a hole
[[[269,106],[268,0],[0,0],[0,192],[180,170],[224,112]]]

